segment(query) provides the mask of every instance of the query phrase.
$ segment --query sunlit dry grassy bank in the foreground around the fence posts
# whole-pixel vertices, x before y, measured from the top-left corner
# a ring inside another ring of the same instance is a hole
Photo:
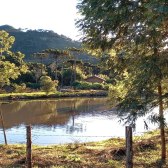
[[[166,137],[168,135],[168,130]],[[133,163],[137,168],[168,167],[161,158],[159,131],[149,132],[133,140]],[[166,141],[168,146],[168,141]],[[25,167],[25,145],[0,145],[0,167]],[[33,167],[111,167],[125,168],[125,139],[112,138],[100,142],[74,143],[32,148]]]

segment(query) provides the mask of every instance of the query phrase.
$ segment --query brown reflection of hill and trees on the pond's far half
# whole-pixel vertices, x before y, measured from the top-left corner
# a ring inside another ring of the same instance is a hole
[[[72,127],[74,129],[68,128],[68,130],[81,130],[81,126],[77,126],[77,123],[75,123],[75,116],[84,111],[88,112],[88,110],[96,111],[100,106],[103,108],[102,100],[99,98],[67,98],[13,101],[2,104],[2,110],[6,128],[22,123],[49,126],[53,124],[64,125],[68,123],[72,116]]]

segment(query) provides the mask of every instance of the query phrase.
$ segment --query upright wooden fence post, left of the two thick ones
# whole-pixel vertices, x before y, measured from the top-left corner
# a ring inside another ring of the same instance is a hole
[[[27,125],[27,168],[32,168],[32,141],[31,141],[31,126]]]

